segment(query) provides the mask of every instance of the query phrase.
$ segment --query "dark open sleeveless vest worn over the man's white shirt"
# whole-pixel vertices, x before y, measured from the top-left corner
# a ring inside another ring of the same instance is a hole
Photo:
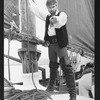
[[[60,12],[58,13],[59,16]],[[50,24],[50,16],[47,16],[46,18],[46,24],[45,24],[45,36],[44,36],[44,40],[45,41],[49,41],[49,35],[48,35],[48,27]],[[57,42],[60,48],[66,47],[69,44],[68,41],[68,34],[67,34],[67,29],[66,29],[66,24],[64,26],[62,26],[61,28],[55,28],[56,31],[56,37],[57,37]]]

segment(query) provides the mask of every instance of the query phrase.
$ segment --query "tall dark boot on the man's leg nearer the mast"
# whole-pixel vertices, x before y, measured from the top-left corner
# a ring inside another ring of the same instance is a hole
[[[49,85],[48,85],[46,91],[53,92],[54,87],[55,87],[55,80],[57,77],[57,69],[59,67],[59,64],[55,63],[55,62],[50,62],[49,67],[50,67],[50,80],[49,80]]]

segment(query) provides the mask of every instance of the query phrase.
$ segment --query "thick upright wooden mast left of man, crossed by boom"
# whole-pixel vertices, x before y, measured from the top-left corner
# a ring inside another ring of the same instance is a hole
[[[21,17],[21,32],[27,33],[28,35],[36,36],[36,24],[35,15],[31,12],[28,7],[27,0],[20,0],[20,17]],[[37,51],[37,46],[30,43],[28,40],[22,42],[22,48],[19,49],[18,54],[22,60],[23,73],[31,73],[32,67],[34,72],[38,71],[38,55],[40,51]],[[34,62],[32,66],[32,62]]]

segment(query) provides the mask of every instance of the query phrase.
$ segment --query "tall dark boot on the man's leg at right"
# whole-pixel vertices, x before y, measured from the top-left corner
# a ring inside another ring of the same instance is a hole
[[[67,87],[69,89],[70,100],[76,100],[75,75],[73,73],[73,68],[70,64],[66,63],[64,57],[60,60],[60,62],[65,75]]]

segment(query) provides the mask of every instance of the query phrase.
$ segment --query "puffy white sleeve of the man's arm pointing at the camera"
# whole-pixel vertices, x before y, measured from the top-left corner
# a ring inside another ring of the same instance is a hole
[[[56,16],[57,23],[54,24],[54,28],[60,28],[67,22],[67,14],[65,12],[61,12],[59,16]]]

